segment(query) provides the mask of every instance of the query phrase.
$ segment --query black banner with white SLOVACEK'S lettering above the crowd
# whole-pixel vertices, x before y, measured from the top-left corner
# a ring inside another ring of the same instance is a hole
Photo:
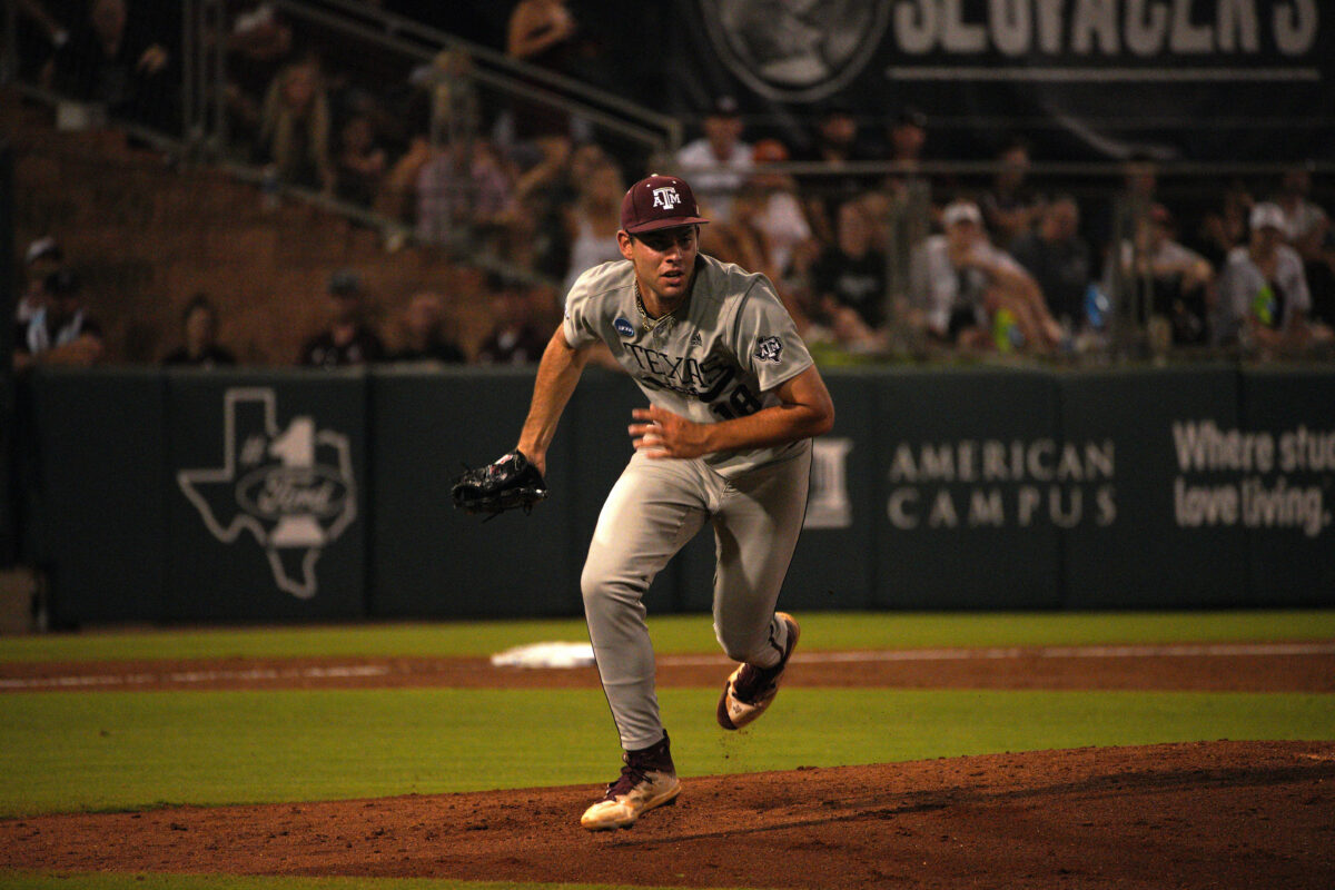
[[[674,5],[669,89],[684,111],[728,93],[798,136],[832,104],[868,121],[913,105],[945,124],[941,157],[1015,131],[1052,159],[1332,156],[1335,7],[1316,0]]]

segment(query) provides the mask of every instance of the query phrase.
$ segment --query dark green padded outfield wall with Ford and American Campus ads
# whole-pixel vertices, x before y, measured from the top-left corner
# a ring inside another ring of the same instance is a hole
[[[1335,372],[830,370],[801,610],[1335,604]],[[20,492],[57,624],[571,615],[642,404],[590,370],[553,496],[482,523],[465,462],[530,370],[41,371]],[[708,530],[654,612],[710,606]]]

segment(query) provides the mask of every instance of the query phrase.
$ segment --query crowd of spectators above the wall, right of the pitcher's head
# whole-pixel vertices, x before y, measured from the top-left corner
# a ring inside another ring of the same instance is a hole
[[[928,176],[914,108],[890,119],[881,145],[829,108],[792,151],[772,137],[749,145],[732,108],[720,101],[677,159],[685,176],[710,173],[704,250],[766,272],[809,342],[1060,355],[1107,346],[1116,318],[1152,354],[1335,346],[1335,238],[1307,164],[1255,192],[1232,183],[1214,205],[1183,201],[1184,223],[1148,159],[1125,164],[1116,193],[1081,200],[1032,181],[1023,139],[1004,145],[991,181]],[[796,181],[766,171],[789,159],[825,169]],[[890,172],[848,168],[858,160]]]

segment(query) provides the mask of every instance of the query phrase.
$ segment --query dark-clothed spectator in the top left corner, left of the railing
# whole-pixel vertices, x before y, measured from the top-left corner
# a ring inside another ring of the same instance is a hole
[[[97,103],[117,119],[170,125],[176,120],[175,83],[170,40],[159,28],[170,28],[171,20],[158,11],[144,15],[132,9],[128,0],[92,0],[87,21],[55,55],[53,88],[79,101]]]

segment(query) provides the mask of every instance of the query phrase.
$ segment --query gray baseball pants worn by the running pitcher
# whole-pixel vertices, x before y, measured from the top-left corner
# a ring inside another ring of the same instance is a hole
[[[602,689],[621,746],[657,743],[654,650],[645,591],[709,519],[714,526],[714,635],[729,658],[768,667],[788,642],[774,604],[797,546],[810,452],[725,479],[704,460],[630,459],[603,503],[581,587]]]

